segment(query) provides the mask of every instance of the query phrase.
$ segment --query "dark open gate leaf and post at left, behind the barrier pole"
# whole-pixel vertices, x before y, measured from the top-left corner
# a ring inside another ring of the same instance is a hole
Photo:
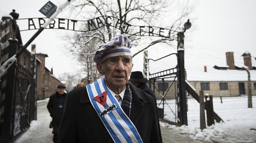
[[[16,20],[3,17],[1,25],[1,64],[22,47]],[[14,142],[37,119],[37,63],[35,52],[22,53],[1,77],[0,82],[0,142]],[[23,61],[23,63],[21,63]]]

